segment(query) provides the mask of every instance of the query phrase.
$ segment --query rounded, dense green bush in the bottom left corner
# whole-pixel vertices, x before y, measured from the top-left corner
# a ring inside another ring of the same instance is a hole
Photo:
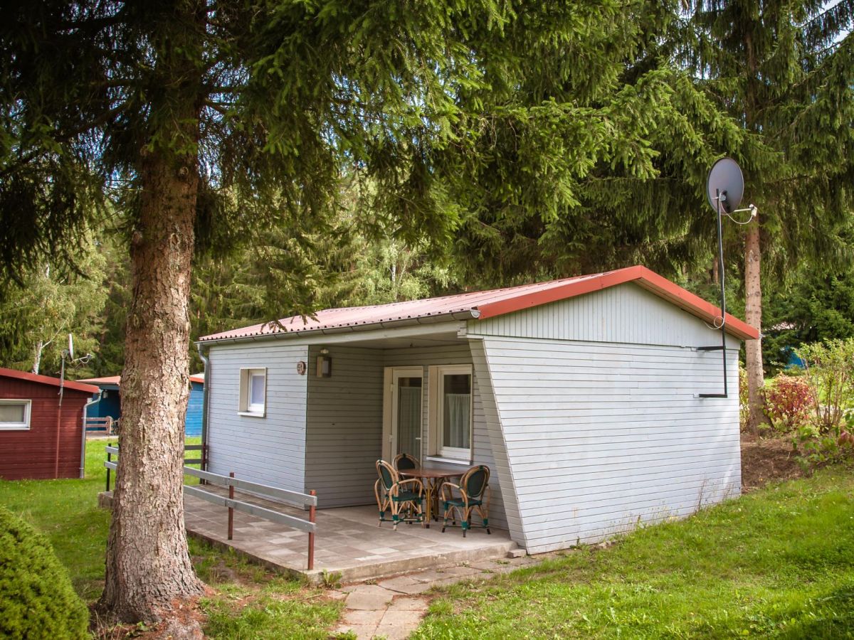
[[[0,637],[82,638],[89,611],[47,538],[0,506]]]

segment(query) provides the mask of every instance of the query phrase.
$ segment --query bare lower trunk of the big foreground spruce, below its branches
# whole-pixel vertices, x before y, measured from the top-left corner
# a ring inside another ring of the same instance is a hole
[[[140,172],[132,305],[121,375],[122,428],[102,608],[156,620],[201,592],[184,532],[184,415],[190,382],[190,259],[198,171],[154,154]]]

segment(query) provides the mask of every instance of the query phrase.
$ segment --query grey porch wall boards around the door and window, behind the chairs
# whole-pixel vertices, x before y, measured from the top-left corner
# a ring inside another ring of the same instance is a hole
[[[459,345],[387,349],[384,352],[384,358],[384,364],[387,367],[420,366],[424,368],[424,420],[422,422],[423,432],[421,435],[422,456],[424,457],[427,455],[427,451],[430,450],[430,420],[428,416],[430,410],[430,381],[427,368],[434,364],[473,364],[471,350],[467,342],[460,342]],[[508,528],[508,521],[502,499],[503,484],[500,483],[496,474],[497,467],[493,455],[493,443],[489,437],[477,367],[473,369],[471,375],[471,395],[473,405],[472,433],[474,439],[474,460],[476,464],[485,464],[488,466],[491,475],[489,480],[489,521],[494,527],[506,529]],[[424,461],[424,466],[447,467],[458,471],[465,470],[465,466],[463,465],[442,464],[433,461]]]

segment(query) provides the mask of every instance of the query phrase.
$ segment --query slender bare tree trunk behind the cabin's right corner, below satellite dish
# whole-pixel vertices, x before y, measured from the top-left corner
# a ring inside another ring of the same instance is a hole
[[[745,316],[753,328],[762,330],[762,284],[760,282],[759,221],[747,227],[745,241]],[[762,366],[762,339],[746,340],[747,352],[747,404],[750,409],[748,429],[758,434],[759,427],[768,419],[764,412],[762,389],[765,375]]]

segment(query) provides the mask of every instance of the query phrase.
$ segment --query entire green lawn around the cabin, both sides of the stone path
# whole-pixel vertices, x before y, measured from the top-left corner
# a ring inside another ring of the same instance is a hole
[[[0,502],[46,532],[74,587],[100,594],[109,515],[104,442],[86,480],[0,481]],[[341,604],[190,541],[214,638],[325,638]],[[608,549],[565,552],[436,595],[416,638],[854,637],[854,470],[759,489]]]

